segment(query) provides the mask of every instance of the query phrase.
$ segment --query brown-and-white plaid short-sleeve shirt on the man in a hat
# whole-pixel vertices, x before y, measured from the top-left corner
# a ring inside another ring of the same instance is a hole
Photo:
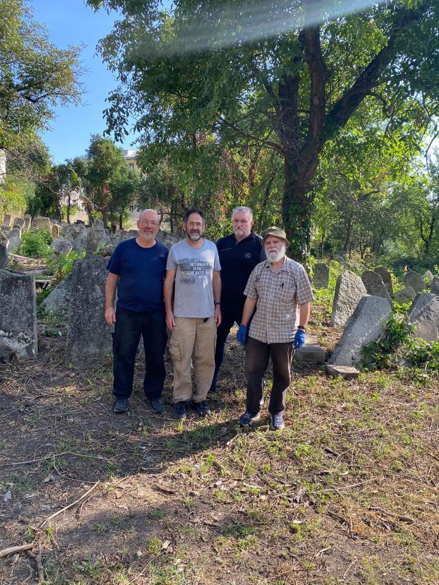
[[[305,268],[287,256],[277,274],[268,260],[258,264],[244,294],[257,298],[249,335],[265,344],[292,342],[297,329],[297,306],[314,300]]]

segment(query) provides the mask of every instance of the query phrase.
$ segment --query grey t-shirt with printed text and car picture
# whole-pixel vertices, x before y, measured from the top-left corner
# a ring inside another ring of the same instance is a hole
[[[174,243],[169,250],[166,270],[176,271],[174,315],[213,317],[212,276],[214,270],[221,270],[213,241],[205,239],[201,248],[193,248],[185,239]]]

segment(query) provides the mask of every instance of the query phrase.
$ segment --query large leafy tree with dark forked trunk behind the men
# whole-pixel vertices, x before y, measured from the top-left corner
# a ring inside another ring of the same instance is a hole
[[[350,15],[305,0],[176,0],[171,14],[158,0],[88,4],[123,14],[100,43],[121,81],[108,130],[123,137],[134,115],[150,161],[180,152],[194,188],[202,159],[219,160],[224,147],[273,150],[296,259],[309,250],[319,157],[355,112],[376,102],[377,123],[405,126],[411,147],[438,113],[437,3],[371,3]]]

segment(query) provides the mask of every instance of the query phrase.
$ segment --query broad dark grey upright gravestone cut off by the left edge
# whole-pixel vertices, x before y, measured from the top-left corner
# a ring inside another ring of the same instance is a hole
[[[0,345],[36,357],[36,294],[32,276],[0,270]]]

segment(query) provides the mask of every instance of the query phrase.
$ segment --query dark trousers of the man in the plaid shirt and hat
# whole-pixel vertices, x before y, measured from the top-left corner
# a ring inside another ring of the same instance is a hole
[[[264,344],[253,337],[246,343],[246,379],[247,379],[247,410],[257,414],[261,408],[259,403],[263,392],[263,377],[268,368],[268,360],[272,357],[273,386],[270,394],[268,411],[278,414],[285,410],[287,387],[291,383],[290,366],[294,355],[293,342],[283,344]]]

